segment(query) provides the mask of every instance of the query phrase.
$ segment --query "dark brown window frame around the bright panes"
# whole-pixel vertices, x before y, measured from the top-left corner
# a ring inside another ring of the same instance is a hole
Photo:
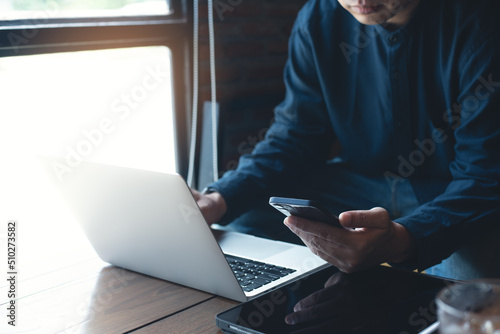
[[[47,18],[0,21],[0,57],[165,46],[172,55],[177,172],[188,169],[191,115],[192,4],[170,0],[171,13],[154,16]],[[42,21],[42,19],[38,20]]]

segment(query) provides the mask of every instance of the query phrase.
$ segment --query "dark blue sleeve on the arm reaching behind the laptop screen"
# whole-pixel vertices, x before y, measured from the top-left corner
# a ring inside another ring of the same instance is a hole
[[[317,78],[312,38],[299,15],[289,41],[284,70],[286,95],[275,108],[274,122],[236,170],[210,185],[227,202],[230,221],[259,200],[293,185],[306,170],[325,163],[334,134]]]

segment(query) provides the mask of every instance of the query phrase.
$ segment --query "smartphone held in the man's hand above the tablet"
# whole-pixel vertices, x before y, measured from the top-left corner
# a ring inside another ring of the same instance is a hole
[[[318,203],[307,199],[271,197],[269,204],[285,216],[296,216],[343,228],[339,219]]]

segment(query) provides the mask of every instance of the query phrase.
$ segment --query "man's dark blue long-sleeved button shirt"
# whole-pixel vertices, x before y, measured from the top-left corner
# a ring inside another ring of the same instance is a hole
[[[418,267],[438,263],[500,224],[499,9],[498,0],[421,0],[389,31],[337,1],[309,1],[266,139],[212,186],[241,213],[313,173],[338,141],[353,170],[412,182],[424,204],[396,221],[417,240]]]

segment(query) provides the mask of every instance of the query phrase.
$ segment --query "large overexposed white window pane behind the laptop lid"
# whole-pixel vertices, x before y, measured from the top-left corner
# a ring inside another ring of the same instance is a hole
[[[164,46],[0,58],[1,141],[23,168],[44,154],[175,172],[170,59]]]

